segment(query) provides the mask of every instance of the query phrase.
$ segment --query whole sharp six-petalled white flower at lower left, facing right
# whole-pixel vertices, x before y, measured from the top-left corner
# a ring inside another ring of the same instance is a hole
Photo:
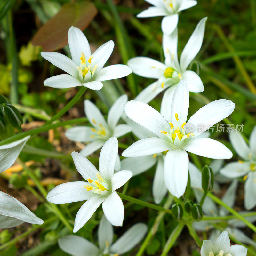
[[[132,177],[132,172],[122,170],[114,174],[117,151],[117,139],[111,137],[103,145],[100,152],[100,171],[86,157],[80,153],[72,152],[76,169],[87,182],[63,183],[48,193],[47,200],[54,204],[87,200],[76,214],[74,232],[84,226],[101,203],[103,212],[111,224],[122,226],[124,205],[116,193],[116,189],[123,186]]]

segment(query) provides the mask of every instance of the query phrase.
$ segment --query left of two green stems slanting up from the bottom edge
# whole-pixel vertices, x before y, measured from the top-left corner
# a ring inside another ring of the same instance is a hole
[[[169,193],[167,200],[164,204],[164,208],[165,209],[169,209],[171,204],[173,202],[173,196]],[[150,242],[150,240],[156,235],[156,232],[158,230],[159,224],[161,222],[161,220],[164,218],[165,212],[159,212],[154,224],[152,226],[152,228],[148,231],[148,235],[146,236],[146,238],[144,239],[143,243],[140,246],[139,251],[137,252],[137,254],[135,256],[141,256],[143,255],[144,251],[146,250],[148,243]]]

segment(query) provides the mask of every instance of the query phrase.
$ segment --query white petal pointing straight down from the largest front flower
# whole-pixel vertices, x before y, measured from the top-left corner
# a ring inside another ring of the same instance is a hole
[[[188,183],[188,153],[173,149],[167,152],[164,161],[165,185],[173,196],[179,198]]]

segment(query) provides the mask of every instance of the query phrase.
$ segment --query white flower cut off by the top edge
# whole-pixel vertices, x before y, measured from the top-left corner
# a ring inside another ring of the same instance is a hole
[[[179,12],[193,7],[197,4],[194,0],[145,0],[154,5],[140,12],[138,18],[165,16],[162,20],[162,31],[170,35],[177,27]]]

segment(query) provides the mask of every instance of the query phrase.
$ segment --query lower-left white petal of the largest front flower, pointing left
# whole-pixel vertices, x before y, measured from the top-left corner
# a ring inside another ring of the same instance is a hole
[[[169,141],[153,137],[134,142],[129,148],[124,150],[122,156],[147,156],[160,153],[166,150],[170,150],[173,148],[174,145],[172,145]]]

